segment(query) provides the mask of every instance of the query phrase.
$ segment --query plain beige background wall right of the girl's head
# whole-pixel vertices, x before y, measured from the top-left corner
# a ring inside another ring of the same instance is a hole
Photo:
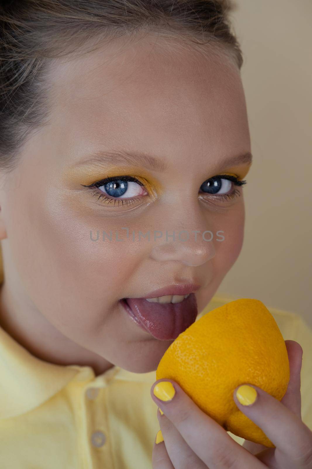
[[[254,163],[244,245],[217,294],[259,299],[312,327],[312,2],[236,5]]]

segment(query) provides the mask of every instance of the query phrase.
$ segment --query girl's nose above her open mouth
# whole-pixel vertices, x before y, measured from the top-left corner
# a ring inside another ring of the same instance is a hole
[[[180,222],[177,221],[179,214],[176,212],[174,218],[171,217],[170,224],[154,231],[155,242],[150,253],[152,259],[179,261],[184,265],[197,266],[214,257],[217,234],[211,227],[207,227],[207,219],[204,219],[198,208],[194,210],[193,207],[191,213],[192,215],[188,216],[187,226],[181,226],[181,218]],[[169,229],[169,225],[172,229]]]

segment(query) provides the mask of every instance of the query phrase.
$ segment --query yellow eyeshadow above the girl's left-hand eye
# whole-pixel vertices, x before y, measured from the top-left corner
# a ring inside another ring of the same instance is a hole
[[[67,183],[73,184],[83,184],[89,186],[94,182],[101,181],[107,177],[117,177],[117,176],[132,176],[133,178],[138,179],[145,185],[147,192],[152,193],[156,196],[163,193],[163,186],[157,181],[152,174],[146,171],[145,168],[140,168],[139,166],[114,166],[109,167],[107,170],[94,166],[79,166],[73,167],[70,170],[66,171],[63,178]]]

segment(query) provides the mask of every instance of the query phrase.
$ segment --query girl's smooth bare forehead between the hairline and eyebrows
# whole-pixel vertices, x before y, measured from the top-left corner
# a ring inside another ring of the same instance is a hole
[[[174,144],[191,150],[196,142],[222,144],[228,152],[233,139],[248,142],[244,91],[232,59],[178,50],[168,40],[162,48],[163,40],[114,40],[53,63],[51,122],[63,143],[161,151]]]

